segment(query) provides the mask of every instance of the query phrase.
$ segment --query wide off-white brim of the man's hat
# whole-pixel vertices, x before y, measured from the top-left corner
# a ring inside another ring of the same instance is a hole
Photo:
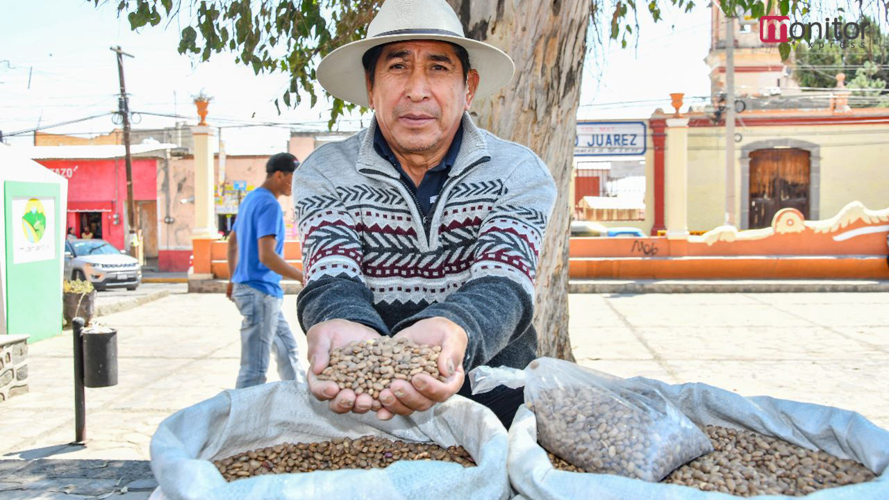
[[[427,33],[404,33],[398,35],[374,36],[345,44],[327,54],[318,64],[318,83],[334,97],[367,107],[367,86],[364,83],[364,67],[361,58],[364,52],[381,44],[405,40],[436,40],[451,42],[466,49],[469,64],[478,71],[477,97],[490,95],[509,83],[516,67],[509,56],[493,45],[478,42],[462,36],[448,36]]]

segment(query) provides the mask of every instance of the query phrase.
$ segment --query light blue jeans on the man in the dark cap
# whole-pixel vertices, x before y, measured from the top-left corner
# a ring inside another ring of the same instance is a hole
[[[283,300],[240,283],[235,284],[231,297],[244,316],[241,369],[235,387],[242,389],[266,383],[269,351],[275,353],[281,380],[304,381],[305,371],[297,358],[296,340],[281,310]]]

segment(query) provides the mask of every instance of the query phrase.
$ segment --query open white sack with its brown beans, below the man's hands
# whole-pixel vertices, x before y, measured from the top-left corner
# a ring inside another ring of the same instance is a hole
[[[295,382],[223,391],[151,439],[164,500],[504,500],[506,456],[503,425],[469,399],[383,422],[332,413]]]

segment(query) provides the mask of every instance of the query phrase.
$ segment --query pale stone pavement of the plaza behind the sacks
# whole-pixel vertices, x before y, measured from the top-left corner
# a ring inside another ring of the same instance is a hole
[[[284,310],[299,330],[295,299]],[[889,294],[573,294],[570,306],[584,366],[843,407],[889,427]],[[240,316],[219,294],[173,294],[102,321],[120,332],[119,383],[86,390],[86,447],[67,444],[70,332],[30,346],[30,392],[0,404],[0,498],[147,498],[157,424],[235,383]]]

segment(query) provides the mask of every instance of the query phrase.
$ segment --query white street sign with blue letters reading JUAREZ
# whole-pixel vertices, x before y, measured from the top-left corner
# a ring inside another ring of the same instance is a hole
[[[575,157],[645,154],[645,122],[577,122]]]

